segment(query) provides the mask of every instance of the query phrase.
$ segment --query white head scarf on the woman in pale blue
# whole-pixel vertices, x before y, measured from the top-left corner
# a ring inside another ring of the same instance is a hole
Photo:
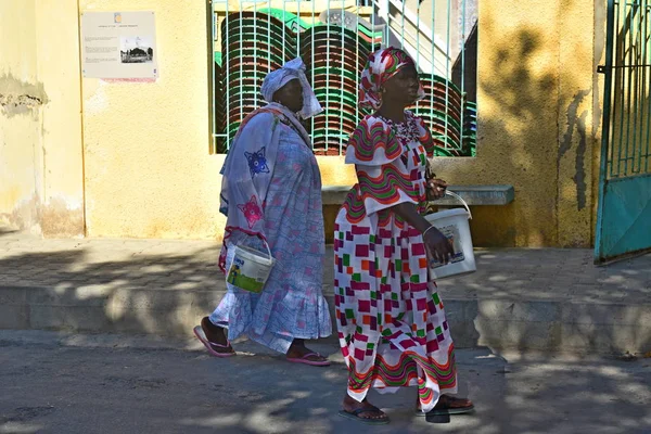
[[[263,93],[265,101],[272,103],[273,94],[293,79],[298,79],[303,87],[303,110],[298,112],[298,116],[303,119],[309,119],[321,113],[323,108],[321,107],[319,100],[317,100],[315,91],[307,81],[307,77],[305,76],[305,64],[301,58],[285,63],[280,69],[272,71],[265,77],[260,89],[260,93]]]

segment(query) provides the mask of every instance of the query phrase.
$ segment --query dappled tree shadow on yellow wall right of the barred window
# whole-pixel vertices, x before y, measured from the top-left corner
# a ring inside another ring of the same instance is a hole
[[[553,245],[554,233],[538,231],[535,226],[532,228],[533,216],[524,215],[528,207],[540,207],[540,214],[546,215],[547,221],[553,218],[551,209],[556,194],[544,189],[544,180],[550,180],[551,173],[547,171],[551,167],[542,164],[547,158],[536,156],[545,153],[541,148],[544,143],[551,144],[554,139],[551,135],[544,137],[551,131],[540,128],[540,125],[551,120],[545,119],[550,106],[549,102],[545,103],[544,95],[549,98],[552,93],[556,77],[550,72],[534,77],[529,72],[531,60],[541,49],[539,35],[520,30],[516,37],[510,38],[508,44],[508,48],[496,50],[490,71],[480,74],[483,99],[489,99],[489,104],[497,110],[482,111],[480,106],[477,153],[481,158],[490,155],[493,159],[488,169],[490,174],[486,174],[490,179],[485,182],[501,183],[497,179],[503,178],[505,183],[513,184],[516,202],[506,207],[475,207],[471,225],[477,233],[475,238],[478,246],[514,246],[519,245],[519,239],[520,244],[533,241],[534,244]],[[556,124],[556,119],[553,122]],[[482,145],[490,146],[489,153]],[[482,177],[482,174],[477,175]],[[532,180],[538,181],[532,184]],[[547,183],[549,188],[552,184],[553,181]],[[532,190],[537,191],[534,193]],[[538,201],[545,200],[545,195],[548,203],[539,203]],[[501,225],[497,225],[500,235],[493,234],[483,239],[483,227],[494,227],[493,222],[496,221],[501,221]],[[522,240],[523,237],[526,237],[526,241]]]

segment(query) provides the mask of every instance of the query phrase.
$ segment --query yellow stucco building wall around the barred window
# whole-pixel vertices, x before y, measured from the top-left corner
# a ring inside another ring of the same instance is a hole
[[[27,143],[9,153],[0,148],[0,218],[15,219],[33,197],[63,197],[68,216],[73,208],[81,216],[85,200],[90,237],[220,239],[224,156],[209,154],[205,2],[79,1],[80,12],[156,13],[155,82],[79,77],[75,0],[9,0],[0,8],[0,93],[8,76],[46,95],[42,106],[0,116],[4,142]],[[56,31],[51,16],[59,18]],[[511,205],[474,207],[475,244],[590,244],[602,20],[601,5],[587,0],[539,3],[535,13],[522,1],[481,2],[478,155],[435,162],[450,183],[515,187]],[[14,35],[21,38],[8,43]],[[319,165],[324,184],[354,182],[343,158],[319,157]],[[28,209],[41,226],[42,208]],[[71,221],[51,232],[79,227]]]

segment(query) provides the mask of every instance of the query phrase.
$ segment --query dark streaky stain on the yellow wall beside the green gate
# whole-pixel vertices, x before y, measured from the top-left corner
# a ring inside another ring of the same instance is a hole
[[[566,129],[563,135],[563,139],[561,141],[561,145],[559,146],[559,154],[557,157],[557,167],[560,170],[561,158],[572,149],[572,139],[574,137],[574,130],[576,129],[579,135],[579,143],[576,149],[576,166],[575,174],[572,177],[572,180],[576,184],[576,203],[578,210],[582,210],[586,206],[586,169],[585,169],[585,153],[587,148],[586,140],[586,116],[587,112],[583,112],[580,117],[578,117],[578,106],[583,102],[583,100],[589,95],[591,89],[580,90],[578,93],[574,95],[572,102],[567,106],[567,120],[566,120]]]

